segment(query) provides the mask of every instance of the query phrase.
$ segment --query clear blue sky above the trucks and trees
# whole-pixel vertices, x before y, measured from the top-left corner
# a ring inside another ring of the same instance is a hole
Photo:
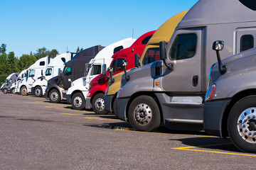
[[[156,30],[198,0],[8,0],[0,1],[0,45],[16,57],[41,47],[64,53],[107,46]]]

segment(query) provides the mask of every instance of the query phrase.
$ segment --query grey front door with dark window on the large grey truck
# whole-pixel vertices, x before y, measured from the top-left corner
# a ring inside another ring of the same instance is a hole
[[[173,70],[163,64],[154,88],[158,89],[156,82],[159,82],[164,91],[201,91],[201,39],[201,29],[177,30],[174,33],[166,50],[166,62],[173,65]]]

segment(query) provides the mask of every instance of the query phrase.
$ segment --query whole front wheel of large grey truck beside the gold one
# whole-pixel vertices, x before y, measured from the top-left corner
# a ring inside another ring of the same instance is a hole
[[[128,119],[135,130],[151,132],[161,123],[159,106],[151,96],[139,96],[129,106]]]

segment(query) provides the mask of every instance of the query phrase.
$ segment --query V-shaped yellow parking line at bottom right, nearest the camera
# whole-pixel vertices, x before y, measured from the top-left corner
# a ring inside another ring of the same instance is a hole
[[[202,145],[202,146],[197,146],[197,147],[212,147],[212,146],[230,145],[230,144],[232,144],[232,143]],[[217,154],[233,154],[233,155],[240,155],[240,156],[247,156],[247,157],[256,157],[256,155],[253,155],[253,154],[238,154],[238,153],[230,153],[230,152],[217,152],[217,151],[208,151],[208,150],[201,150],[201,149],[190,149],[190,148],[197,148],[197,147],[173,147],[171,149],[188,150],[188,151],[196,151],[196,152],[210,152],[210,153],[217,153]]]

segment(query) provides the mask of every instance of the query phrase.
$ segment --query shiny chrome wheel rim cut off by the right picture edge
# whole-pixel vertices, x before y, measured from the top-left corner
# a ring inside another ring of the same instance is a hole
[[[240,114],[238,132],[246,142],[256,143],[256,108],[247,108]]]

